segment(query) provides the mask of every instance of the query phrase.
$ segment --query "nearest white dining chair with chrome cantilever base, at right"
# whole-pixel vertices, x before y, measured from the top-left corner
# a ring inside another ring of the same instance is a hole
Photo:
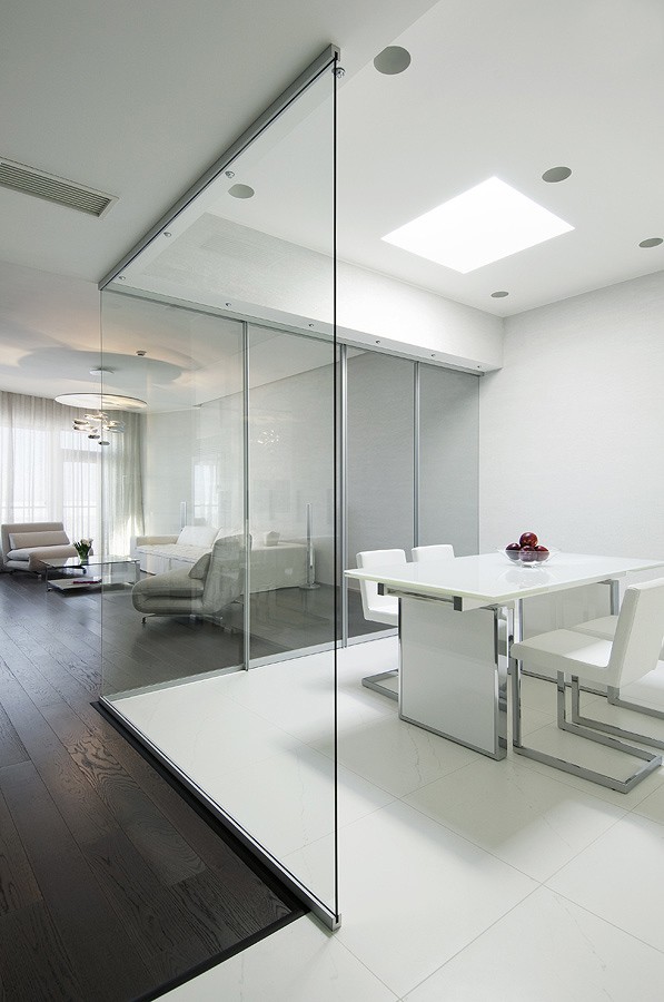
[[[552,630],[513,644],[511,648],[513,678],[513,731],[512,744],[517,755],[524,755],[553,768],[582,776],[601,786],[620,793],[628,793],[650,773],[662,764],[662,756],[642,748],[626,745],[597,729],[602,721],[581,717],[579,682],[612,686],[636,681],[652,671],[660,657],[664,633],[664,579],[632,584],[627,588],[618,615],[613,640],[594,637],[573,630]],[[626,779],[618,779],[547,755],[522,743],[521,677],[523,664],[534,668],[555,671],[557,676],[557,724],[561,730],[569,731],[618,752],[642,759],[645,764]],[[565,679],[572,679],[573,719],[567,720]],[[579,723],[574,721],[574,717]],[[634,740],[647,744],[641,735],[631,734]]]

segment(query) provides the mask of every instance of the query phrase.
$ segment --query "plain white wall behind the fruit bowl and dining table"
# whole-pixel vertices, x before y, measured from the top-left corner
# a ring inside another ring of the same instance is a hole
[[[664,557],[664,272],[511,317],[479,412],[480,552]]]

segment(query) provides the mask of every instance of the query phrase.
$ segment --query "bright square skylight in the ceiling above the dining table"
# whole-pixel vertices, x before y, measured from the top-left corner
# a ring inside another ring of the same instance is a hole
[[[383,239],[465,275],[571,229],[532,198],[489,177]]]

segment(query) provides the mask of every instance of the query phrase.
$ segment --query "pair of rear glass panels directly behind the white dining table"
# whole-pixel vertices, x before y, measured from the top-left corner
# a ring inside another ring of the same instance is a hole
[[[364,550],[450,543],[477,552],[479,380],[375,351],[346,369],[346,563]],[[346,589],[344,639],[394,633],[363,615]]]

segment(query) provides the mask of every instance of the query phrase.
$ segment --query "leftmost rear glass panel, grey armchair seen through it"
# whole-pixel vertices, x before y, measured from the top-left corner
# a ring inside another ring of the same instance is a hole
[[[125,587],[103,595],[102,692],[125,711],[161,689],[166,707],[165,687],[215,678],[244,659],[244,568],[229,567],[228,549],[215,542],[235,534],[244,547],[242,324],[105,292],[102,332],[105,395],[147,404],[135,413],[105,405],[125,432],[111,429],[100,446],[100,550],[126,562],[113,563]]]

